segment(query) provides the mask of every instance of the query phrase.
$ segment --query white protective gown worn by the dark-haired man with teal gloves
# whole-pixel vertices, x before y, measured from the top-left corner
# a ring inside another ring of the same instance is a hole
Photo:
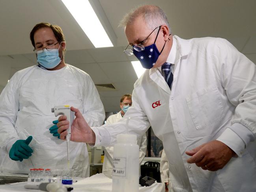
[[[0,95],[0,147],[6,154],[1,171],[28,173],[30,168],[66,168],[67,145],[54,137],[49,128],[58,119],[51,108],[69,104],[78,108],[91,126],[105,119],[103,104],[90,76],[66,65],[56,71],[38,66],[18,71]],[[9,158],[18,139],[32,135],[32,156],[22,162]],[[70,142],[70,166],[79,177],[89,176],[86,144]]]

